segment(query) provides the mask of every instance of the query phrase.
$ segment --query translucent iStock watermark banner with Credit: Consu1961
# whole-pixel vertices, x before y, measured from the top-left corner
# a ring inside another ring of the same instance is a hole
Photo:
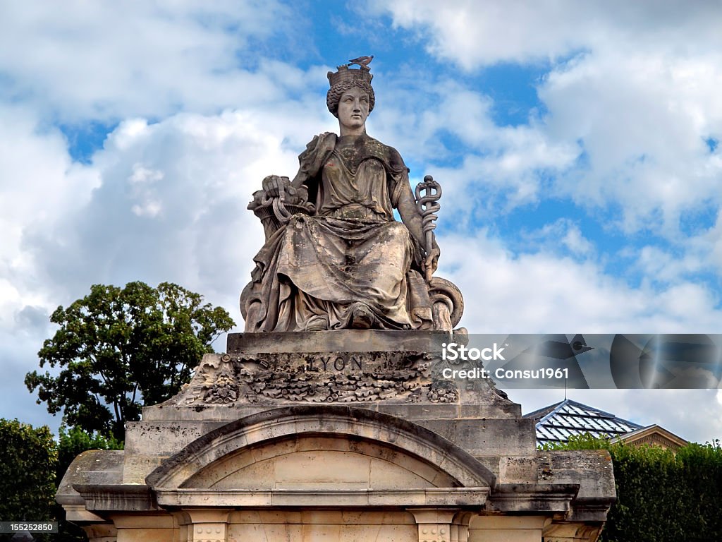
[[[504,388],[722,388],[721,334],[469,334],[446,340],[437,350],[443,379],[491,378]]]

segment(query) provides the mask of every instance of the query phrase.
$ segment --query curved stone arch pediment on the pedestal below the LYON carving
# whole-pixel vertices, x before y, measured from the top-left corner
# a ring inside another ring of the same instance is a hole
[[[312,451],[313,459],[304,461]],[[305,479],[284,480],[266,474],[261,483],[256,476],[259,468],[271,465],[288,470],[292,463],[318,464],[319,454],[333,463],[352,461],[357,468],[367,467],[365,478],[339,478],[336,486],[346,488],[355,483],[365,485],[363,489],[391,489],[381,471],[397,477],[405,473],[406,488],[466,487],[488,492],[496,483],[494,473],[442,436],[401,418],[340,405],[276,408],[228,423],[165,460],[146,482],[154,490],[217,489],[233,486],[231,477],[239,478],[235,489],[282,489],[284,483],[305,481],[309,488],[315,483],[321,490],[318,484],[333,486],[330,478],[314,479],[306,472]],[[258,483],[242,479],[244,471]]]

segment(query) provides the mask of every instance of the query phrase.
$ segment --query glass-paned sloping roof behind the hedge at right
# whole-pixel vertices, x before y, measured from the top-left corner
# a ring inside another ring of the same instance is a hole
[[[614,439],[643,429],[638,423],[617,418],[614,414],[565,399],[525,414],[536,423],[536,442],[567,442],[572,435],[589,433],[596,437]]]

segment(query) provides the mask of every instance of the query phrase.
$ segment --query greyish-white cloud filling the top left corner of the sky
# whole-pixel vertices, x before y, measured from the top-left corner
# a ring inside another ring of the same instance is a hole
[[[275,0],[4,3],[0,97],[71,122],[268,103],[303,72],[279,77],[255,48],[302,28]]]

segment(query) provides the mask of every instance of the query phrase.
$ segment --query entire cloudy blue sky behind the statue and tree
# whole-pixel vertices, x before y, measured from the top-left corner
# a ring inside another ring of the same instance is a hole
[[[443,184],[462,325],[721,332],[722,6],[441,4],[2,2],[0,416],[58,426],[22,379],[92,284],[170,280],[242,327],[262,238],[245,205],[336,129],[326,72],[363,54],[369,133]],[[722,436],[717,390],[570,397]]]

